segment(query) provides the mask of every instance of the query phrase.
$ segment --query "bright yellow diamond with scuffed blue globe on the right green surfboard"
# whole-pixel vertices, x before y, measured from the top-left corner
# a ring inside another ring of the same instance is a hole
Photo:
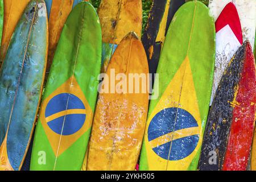
[[[202,140],[201,118],[189,58],[167,86],[146,127],[148,166],[187,170]]]

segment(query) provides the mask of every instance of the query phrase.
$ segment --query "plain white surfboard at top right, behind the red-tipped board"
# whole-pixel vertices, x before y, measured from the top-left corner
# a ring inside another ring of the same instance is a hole
[[[255,17],[255,7],[256,1],[247,0],[209,0],[210,14],[213,16],[214,20],[217,20],[221,11],[229,3],[233,2],[236,5],[238,15],[240,17],[240,22],[242,26],[243,41],[248,39],[251,46],[254,48],[254,38],[255,38],[255,27],[256,27],[256,17]]]

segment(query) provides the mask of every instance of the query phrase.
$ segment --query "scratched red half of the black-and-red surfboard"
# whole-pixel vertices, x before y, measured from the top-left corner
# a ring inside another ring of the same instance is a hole
[[[249,163],[256,113],[256,78],[253,49],[246,42],[243,71],[233,101],[232,125],[223,170],[245,171]]]

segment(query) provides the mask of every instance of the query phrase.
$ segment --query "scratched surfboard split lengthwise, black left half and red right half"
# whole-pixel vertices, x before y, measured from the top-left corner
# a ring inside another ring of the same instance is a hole
[[[210,109],[200,170],[246,170],[253,139],[255,63],[245,42],[229,63]]]

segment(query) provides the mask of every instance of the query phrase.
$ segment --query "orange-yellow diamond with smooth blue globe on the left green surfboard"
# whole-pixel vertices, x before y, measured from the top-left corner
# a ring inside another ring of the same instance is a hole
[[[72,146],[91,126],[92,109],[72,76],[43,101],[40,121],[55,156]]]

